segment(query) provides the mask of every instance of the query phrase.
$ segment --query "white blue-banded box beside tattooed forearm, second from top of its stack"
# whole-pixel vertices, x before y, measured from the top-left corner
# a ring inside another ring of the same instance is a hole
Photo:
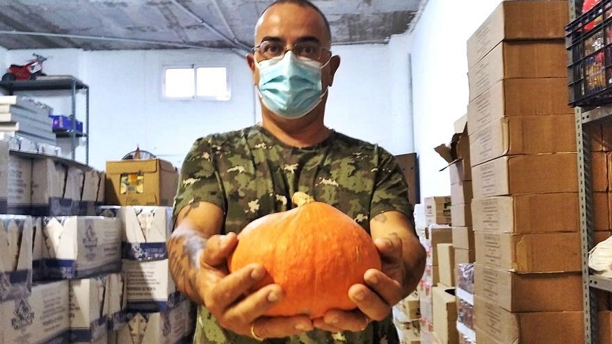
[[[182,300],[170,276],[168,259],[163,261],[123,260],[127,281],[128,311],[166,311]]]

